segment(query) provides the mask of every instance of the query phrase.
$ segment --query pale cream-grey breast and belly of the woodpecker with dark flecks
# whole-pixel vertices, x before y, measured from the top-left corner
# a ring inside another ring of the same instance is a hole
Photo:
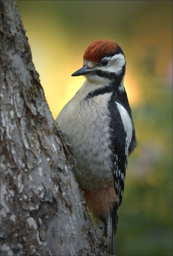
[[[76,179],[84,191],[103,189],[114,184],[111,118],[107,107],[111,95],[105,93],[81,100],[76,108],[71,102],[72,98],[68,102],[70,111],[66,112],[66,121],[61,120],[60,123],[60,129],[66,131],[72,146]]]

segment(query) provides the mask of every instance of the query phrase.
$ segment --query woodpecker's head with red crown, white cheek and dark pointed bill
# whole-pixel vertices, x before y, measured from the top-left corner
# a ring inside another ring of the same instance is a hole
[[[122,49],[113,41],[100,39],[91,43],[83,55],[83,67],[72,76],[83,75],[90,81],[121,81],[125,75],[126,59]]]

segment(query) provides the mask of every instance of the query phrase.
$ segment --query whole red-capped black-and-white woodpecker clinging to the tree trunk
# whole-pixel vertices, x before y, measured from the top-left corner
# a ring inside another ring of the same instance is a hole
[[[111,254],[128,156],[137,145],[123,84],[125,72],[126,59],[119,45],[94,41],[84,52],[83,67],[72,74],[86,80],[56,118],[97,232]]]

